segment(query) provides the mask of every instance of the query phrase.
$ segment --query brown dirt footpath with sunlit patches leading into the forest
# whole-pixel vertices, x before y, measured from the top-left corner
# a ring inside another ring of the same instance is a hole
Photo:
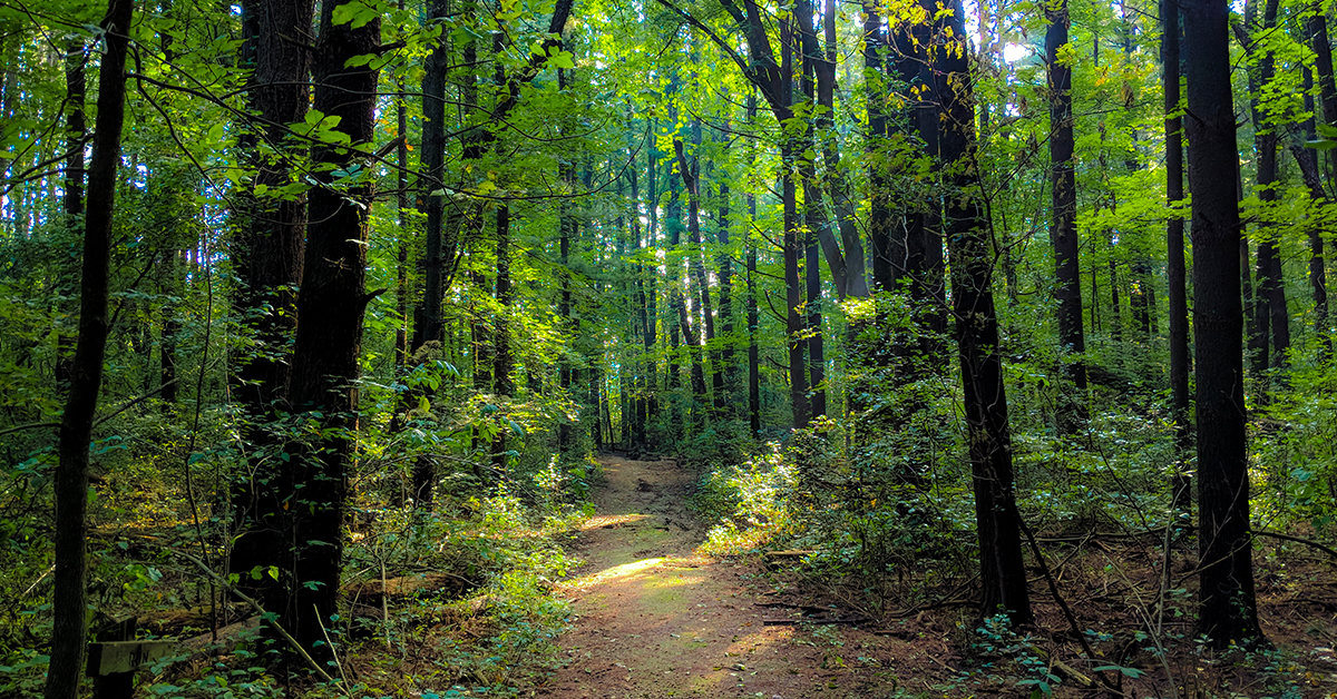
[[[897,684],[882,654],[861,650],[881,639],[767,625],[787,613],[757,605],[754,569],[694,553],[706,527],[686,507],[690,473],[673,461],[604,457],[603,466],[600,515],[576,541],[587,564],[560,591],[575,623],[559,639],[568,664],[535,695],[845,698]]]

